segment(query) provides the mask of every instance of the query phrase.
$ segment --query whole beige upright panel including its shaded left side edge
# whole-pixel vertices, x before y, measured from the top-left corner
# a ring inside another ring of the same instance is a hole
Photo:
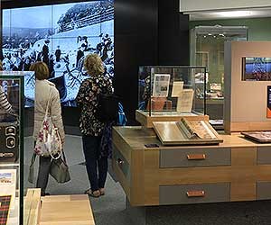
[[[225,44],[225,121],[231,122],[231,131],[248,130],[248,127],[249,130],[257,130],[257,122],[271,124],[271,120],[266,118],[266,86],[271,85],[271,81],[241,80],[241,58],[271,58],[270,49],[271,41],[231,41]],[[265,126],[263,130],[266,130]]]

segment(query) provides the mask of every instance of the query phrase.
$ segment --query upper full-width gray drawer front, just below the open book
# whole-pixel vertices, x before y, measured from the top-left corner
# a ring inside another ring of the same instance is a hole
[[[204,154],[205,159],[188,160],[188,155]],[[230,166],[230,148],[160,150],[160,167]]]

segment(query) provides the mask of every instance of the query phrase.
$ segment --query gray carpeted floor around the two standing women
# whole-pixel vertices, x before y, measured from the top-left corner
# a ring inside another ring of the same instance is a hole
[[[33,187],[27,181],[28,169],[33,151],[33,139],[26,138],[24,141],[24,187]],[[47,192],[51,194],[80,194],[89,188],[89,180],[82,153],[81,139],[76,136],[66,136],[65,153],[70,166],[71,180],[67,184],[57,184],[50,178]],[[35,162],[35,177],[37,175],[38,160]],[[107,175],[106,195],[90,198],[96,225],[127,225],[130,224],[125,214],[126,197],[120,184]],[[114,219],[114,220],[112,220]]]

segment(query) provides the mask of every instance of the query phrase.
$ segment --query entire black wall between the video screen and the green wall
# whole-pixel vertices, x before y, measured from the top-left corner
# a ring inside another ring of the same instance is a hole
[[[189,65],[189,18],[180,1],[115,0],[115,87],[136,124],[138,66]]]

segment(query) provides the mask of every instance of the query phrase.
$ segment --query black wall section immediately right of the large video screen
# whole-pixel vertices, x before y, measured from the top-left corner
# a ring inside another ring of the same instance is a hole
[[[158,63],[157,0],[115,0],[115,92],[135,124],[139,65]]]

